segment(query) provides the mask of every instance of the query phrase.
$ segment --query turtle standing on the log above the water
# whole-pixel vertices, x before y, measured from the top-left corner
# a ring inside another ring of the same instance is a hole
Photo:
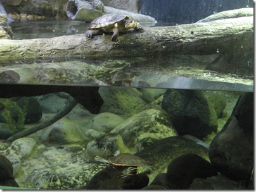
[[[115,15],[106,14],[91,21],[88,30],[86,31],[86,37],[92,38],[94,35],[106,33],[113,33],[112,41],[117,41],[119,33],[127,32],[128,30],[138,30],[143,32],[144,29],[139,25],[136,20],[131,20],[128,15]]]

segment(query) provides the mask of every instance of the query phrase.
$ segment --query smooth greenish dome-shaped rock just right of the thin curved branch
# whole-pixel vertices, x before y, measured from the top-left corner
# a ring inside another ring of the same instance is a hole
[[[44,142],[70,144],[86,141],[87,138],[77,124],[66,118],[62,118],[46,128],[40,140]]]

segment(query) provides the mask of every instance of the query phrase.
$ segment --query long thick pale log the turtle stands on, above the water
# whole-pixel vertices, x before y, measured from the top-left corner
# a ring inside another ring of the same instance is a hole
[[[87,39],[84,34],[50,39],[0,40],[0,63],[19,59],[92,59],[253,52],[253,16],[229,18]]]

